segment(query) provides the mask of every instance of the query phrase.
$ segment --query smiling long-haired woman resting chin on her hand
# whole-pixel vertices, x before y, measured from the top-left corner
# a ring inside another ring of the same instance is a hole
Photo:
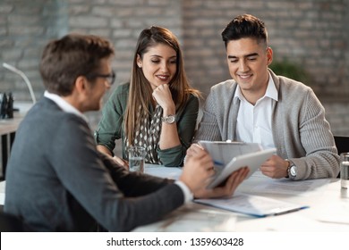
[[[192,143],[200,93],[193,89],[183,67],[177,37],[165,28],[143,29],[133,55],[130,82],[109,97],[95,138],[98,150],[113,155],[122,139],[127,167],[129,146],[147,148],[148,163],[180,166]]]

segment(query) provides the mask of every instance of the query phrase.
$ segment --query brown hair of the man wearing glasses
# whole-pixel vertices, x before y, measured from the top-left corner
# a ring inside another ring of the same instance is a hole
[[[53,40],[41,57],[44,86],[50,93],[68,96],[79,76],[98,73],[101,59],[113,54],[113,46],[102,37],[69,34]]]

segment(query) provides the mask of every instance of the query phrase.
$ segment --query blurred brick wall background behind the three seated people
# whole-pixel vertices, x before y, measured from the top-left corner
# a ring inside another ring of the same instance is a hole
[[[2,67],[9,63],[28,76],[39,99],[43,46],[68,32],[114,43],[116,87],[129,79],[140,30],[157,25],[179,38],[192,86],[206,97],[210,87],[230,79],[220,33],[242,13],[266,23],[271,67],[311,86],[333,133],[349,136],[349,0],[0,0],[0,92],[12,92],[14,106],[31,101],[23,79]],[[88,113],[92,129],[100,115]]]

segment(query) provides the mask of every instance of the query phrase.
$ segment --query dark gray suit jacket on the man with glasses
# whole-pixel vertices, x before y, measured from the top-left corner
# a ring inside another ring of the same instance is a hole
[[[42,98],[16,133],[4,211],[40,231],[128,231],[183,204],[168,179],[125,171],[99,154],[88,124]]]

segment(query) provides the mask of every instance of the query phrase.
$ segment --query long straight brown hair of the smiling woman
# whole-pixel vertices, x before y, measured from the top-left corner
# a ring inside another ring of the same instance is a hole
[[[174,99],[176,112],[183,109],[189,96],[200,96],[200,92],[192,88],[184,71],[183,54],[178,43],[177,37],[169,30],[162,27],[152,26],[149,29],[143,29],[138,38],[136,51],[133,57],[132,73],[130,79],[130,93],[126,106],[126,113],[124,117],[124,126],[126,137],[130,143],[133,144],[135,131],[138,129],[140,120],[144,115],[149,115],[149,104],[152,104],[152,88],[149,81],[145,78],[142,69],[137,65],[137,56],[143,59],[143,55],[149,51],[149,47],[157,46],[157,44],[165,44],[174,49],[176,60],[176,72],[174,78],[170,81],[169,87],[172,98]],[[140,116],[138,115],[141,107]]]

